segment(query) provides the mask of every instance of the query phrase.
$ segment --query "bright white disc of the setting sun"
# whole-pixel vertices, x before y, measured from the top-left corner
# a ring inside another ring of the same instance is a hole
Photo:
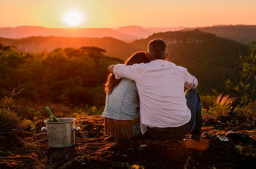
[[[84,22],[84,19],[84,15],[78,10],[69,10],[63,15],[64,23],[71,27],[80,25]]]

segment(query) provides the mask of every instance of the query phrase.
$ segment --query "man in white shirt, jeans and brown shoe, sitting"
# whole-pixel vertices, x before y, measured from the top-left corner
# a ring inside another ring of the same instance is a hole
[[[208,142],[201,140],[201,103],[195,90],[197,79],[187,68],[167,61],[167,44],[162,39],[148,43],[150,63],[127,66],[117,64],[108,70],[116,79],[135,81],[140,96],[140,128],[144,134],[158,139],[183,138],[187,148],[206,150]],[[188,87],[184,95],[184,86]],[[202,146],[203,145],[203,146]]]

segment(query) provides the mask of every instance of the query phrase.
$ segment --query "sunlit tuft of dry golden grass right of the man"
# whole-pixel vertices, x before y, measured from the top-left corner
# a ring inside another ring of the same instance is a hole
[[[235,100],[236,99],[230,97],[230,95],[224,95],[222,97],[222,94],[220,94],[217,96],[214,106],[211,107],[211,111],[214,111],[215,117],[218,118],[230,111],[231,103]]]

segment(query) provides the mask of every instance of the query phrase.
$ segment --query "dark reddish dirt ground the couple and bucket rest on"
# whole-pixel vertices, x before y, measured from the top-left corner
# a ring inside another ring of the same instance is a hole
[[[104,135],[103,123],[100,116],[77,119],[82,128],[75,133],[76,144],[63,149],[48,147],[42,121],[37,130],[20,126],[18,137],[1,138],[0,168],[256,168],[255,126],[244,119],[204,117],[203,138],[211,141],[206,152],[148,135],[116,141]]]

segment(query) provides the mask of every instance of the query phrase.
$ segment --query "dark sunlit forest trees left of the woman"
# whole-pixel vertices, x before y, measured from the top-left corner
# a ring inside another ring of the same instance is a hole
[[[0,44],[1,96],[15,88],[31,100],[102,106],[108,66],[121,63],[99,47],[58,48],[29,54]]]

